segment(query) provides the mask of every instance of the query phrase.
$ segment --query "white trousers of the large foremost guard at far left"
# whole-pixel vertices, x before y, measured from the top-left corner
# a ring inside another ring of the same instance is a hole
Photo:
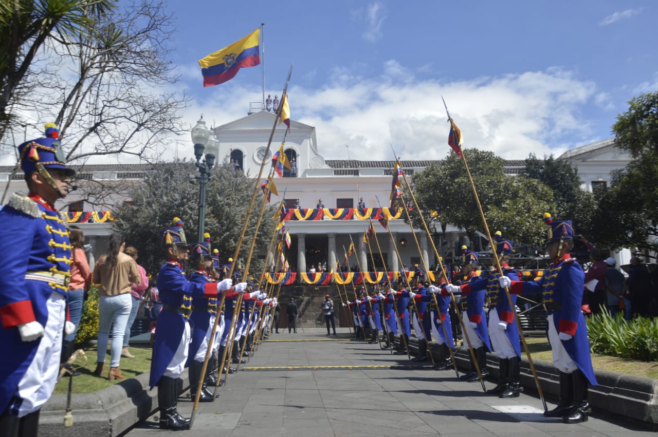
[[[22,399],[18,408],[18,417],[34,413],[41,408],[41,405],[53,394],[59,375],[59,359],[62,355],[62,336],[66,321],[66,298],[58,292],[53,292],[46,305],[48,320],[43,327],[45,333],[41,337],[32,363],[18,382],[16,389],[16,395]],[[5,353],[11,351],[5,350]]]

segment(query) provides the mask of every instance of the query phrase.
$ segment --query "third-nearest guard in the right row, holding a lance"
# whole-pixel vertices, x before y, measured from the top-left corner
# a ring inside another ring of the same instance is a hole
[[[461,267],[461,273],[466,276],[464,284],[461,286],[448,284],[445,288],[447,292],[462,294],[461,304],[464,309],[462,319],[466,327],[468,339],[470,340],[470,346],[473,348],[475,358],[478,361],[482,378],[486,378],[489,375],[486,369],[487,351],[491,352],[492,350],[486,325],[487,315],[484,312],[484,296],[486,290],[485,288],[474,290],[469,287],[470,283],[474,283],[480,279],[480,276],[477,274],[479,264],[478,252],[468,252],[466,246],[462,246],[462,251],[465,252],[464,262]],[[468,382],[477,382],[480,380],[474,363],[472,363],[472,370],[466,375],[462,375],[460,379],[465,379]]]

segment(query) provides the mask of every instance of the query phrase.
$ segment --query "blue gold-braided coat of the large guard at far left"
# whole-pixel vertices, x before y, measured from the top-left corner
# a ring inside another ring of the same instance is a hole
[[[0,413],[9,405],[41,342],[41,338],[23,342],[16,327],[31,321],[45,327],[48,298],[53,291],[66,296],[68,290],[64,285],[25,277],[28,272],[70,277],[66,218],[40,200],[12,195],[0,211],[0,344],[5,350],[0,359]]]

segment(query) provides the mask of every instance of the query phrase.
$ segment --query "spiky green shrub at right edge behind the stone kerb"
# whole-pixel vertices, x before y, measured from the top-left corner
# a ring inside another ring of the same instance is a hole
[[[641,361],[658,360],[658,319],[635,317],[625,321],[621,312],[612,317],[603,308],[603,313],[588,319],[587,330],[592,352]]]

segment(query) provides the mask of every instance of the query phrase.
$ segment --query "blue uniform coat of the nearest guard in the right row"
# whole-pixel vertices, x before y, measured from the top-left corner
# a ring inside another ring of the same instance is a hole
[[[585,273],[575,258],[563,256],[545,270],[539,281],[513,282],[511,292],[515,294],[542,293],[545,304],[561,308],[547,311],[553,314],[555,328],[559,333],[573,336],[571,340],[561,340],[569,357],[578,365],[590,384],[597,384],[592,368],[590,341],[587,338],[587,323],[580,310],[585,285]]]

